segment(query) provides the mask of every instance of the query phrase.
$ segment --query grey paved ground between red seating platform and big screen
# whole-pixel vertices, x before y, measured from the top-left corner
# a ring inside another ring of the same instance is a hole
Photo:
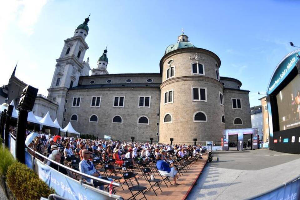
[[[300,155],[270,150],[217,152],[188,196],[193,199],[245,199],[300,174]]]

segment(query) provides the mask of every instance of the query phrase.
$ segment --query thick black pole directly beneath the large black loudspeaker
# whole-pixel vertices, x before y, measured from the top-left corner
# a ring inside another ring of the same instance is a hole
[[[28,111],[19,110],[17,121],[17,137],[16,137],[16,158],[19,162],[25,163],[25,137],[27,127]]]

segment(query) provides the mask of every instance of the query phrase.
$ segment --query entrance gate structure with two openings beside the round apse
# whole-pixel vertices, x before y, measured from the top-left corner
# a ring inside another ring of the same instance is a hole
[[[225,129],[221,138],[223,151],[229,150],[229,135],[237,135],[237,150],[243,150],[244,135],[252,134],[252,149],[257,149],[257,128]]]

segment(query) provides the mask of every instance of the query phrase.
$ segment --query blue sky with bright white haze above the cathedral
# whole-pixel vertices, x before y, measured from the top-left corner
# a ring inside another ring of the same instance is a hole
[[[91,13],[91,68],[108,45],[109,73],[159,73],[166,47],[184,29],[196,46],[221,59],[220,76],[250,90],[250,106],[265,92],[279,61],[300,46],[300,1],[3,1],[0,84],[16,76],[47,95],[63,40]]]

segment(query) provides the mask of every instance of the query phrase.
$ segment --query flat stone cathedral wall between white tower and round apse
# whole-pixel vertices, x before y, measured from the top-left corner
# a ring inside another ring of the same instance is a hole
[[[100,107],[91,107],[92,96],[101,96]],[[125,96],[124,108],[113,107],[115,96]],[[139,96],[151,96],[150,108],[138,108]],[[80,107],[72,107],[73,97],[81,97]],[[71,89],[67,93],[67,99],[63,127],[69,123],[73,114],[77,114],[78,121],[71,123],[82,134],[92,134],[99,138],[109,135],[120,140],[135,137],[136,141],[149,141],[151,137],[154,142],[158,141],[159,88]],[[93,114],[98,116],[98,123],[89,122]],[[112,123],[115,115],[122,117],[122,124]],[[149,118],[149,125],[138,124],[138,118],[142,115]]]

